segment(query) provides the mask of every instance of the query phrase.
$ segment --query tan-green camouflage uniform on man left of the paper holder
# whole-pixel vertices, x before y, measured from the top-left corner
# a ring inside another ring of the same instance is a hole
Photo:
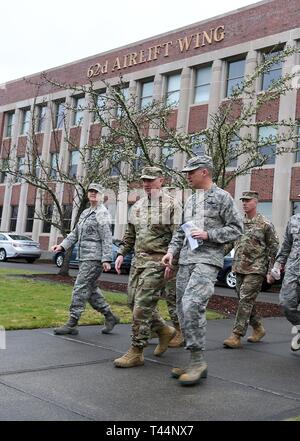
[[[128,305],[133,311],[132,346],[143,348],[153,332],[166,326],[156,306],[167,283],[161,264],[174,225],[174,198],[161,191],[153,199],[141,198],[131,208],[127,230],[118,254],[125,256],[134,249],[128,281]]]

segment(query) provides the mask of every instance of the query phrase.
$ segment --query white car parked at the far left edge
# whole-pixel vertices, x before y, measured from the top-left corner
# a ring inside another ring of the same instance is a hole
[[[30,237],[0,232],[0,262],[22,258],[33,263],[41,254],[40,244]]]

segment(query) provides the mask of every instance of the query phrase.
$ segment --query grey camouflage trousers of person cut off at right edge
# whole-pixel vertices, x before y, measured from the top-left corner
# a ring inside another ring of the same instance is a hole
[[[300,325],[300,277],[285,273],[279,294],[280,305],[288,321],[294,325]]]

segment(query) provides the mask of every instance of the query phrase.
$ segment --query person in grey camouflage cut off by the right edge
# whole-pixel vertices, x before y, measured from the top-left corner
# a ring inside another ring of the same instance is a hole
[[[280,290],[280,304],[287,320],[294,326],[296,334],[291,341],[291,350],[300,349],[300,214],[292,216],[287,224],[281,248],[269,277],[273,283],[280,278],[280,269],[284,267],[284,279]],[[278,276],[276,277],[276,273]]]

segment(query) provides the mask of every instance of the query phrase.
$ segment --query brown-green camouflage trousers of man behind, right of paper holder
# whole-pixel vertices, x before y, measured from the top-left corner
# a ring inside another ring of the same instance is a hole
[[[235,316],[233,332],[244,336],[248,324],[253,328],[261,326],[261,318],[257,314],[255,301],[261,291],[264,276],[261,274],[236,273],[236,293],[239,299],[238,310]]]

